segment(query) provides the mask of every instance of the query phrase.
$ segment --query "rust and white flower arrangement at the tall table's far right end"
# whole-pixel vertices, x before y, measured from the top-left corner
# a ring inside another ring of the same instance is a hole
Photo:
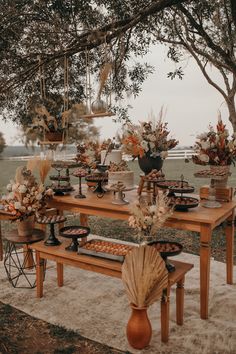
[[[209,126],[209,131],[197,136],[194,146],[196,155],[192,156],[194,163],[199,165],[228,166],[236,159],[236,134],[229,137],[229,132],[218,117],[216,130]]]

